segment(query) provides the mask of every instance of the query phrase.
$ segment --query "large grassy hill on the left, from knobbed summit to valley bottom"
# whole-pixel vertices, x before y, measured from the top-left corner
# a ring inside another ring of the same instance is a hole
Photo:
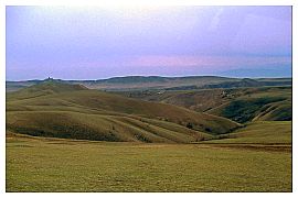
[[[7,100],[7,128],[30,135],[187,143],[240,127],[216,116],[60,82],[8,94]]]

